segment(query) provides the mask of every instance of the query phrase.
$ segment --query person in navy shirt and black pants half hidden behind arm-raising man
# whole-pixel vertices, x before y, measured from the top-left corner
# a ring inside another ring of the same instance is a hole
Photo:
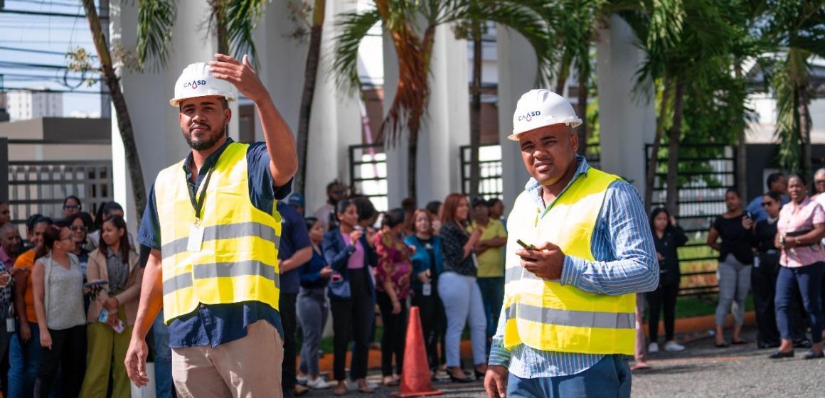
[[[300,290],[299,267],[312,259],[312,244],[304,217],[285,202],[279,201],[276,206],[278,213],[281,213],[281,244],[278,246],[281,300],[278,310],[281,311],[285,335],[281,388],[285,395],[302,396],[309,392],[309,388],[297,384],[295,380],[295,326],[298,323],[295,302]]]

